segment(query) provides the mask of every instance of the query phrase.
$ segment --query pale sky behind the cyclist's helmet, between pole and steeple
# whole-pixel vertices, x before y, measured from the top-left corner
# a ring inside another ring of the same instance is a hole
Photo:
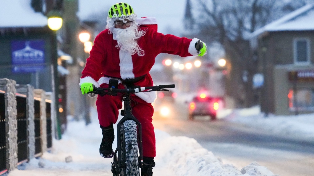
[[[120,2],[120,1],[119,1]],[[78,17],[86,19],[97,12],[108,12],[115,3],[113,0],[79,0]],[[186,0],[124,0],[133,8],[138,17],[155,17],[158,21],[158,32],[165,32],[171,26],[174,30],[182,30]],[[104,17],[106,20],[106,17]]]

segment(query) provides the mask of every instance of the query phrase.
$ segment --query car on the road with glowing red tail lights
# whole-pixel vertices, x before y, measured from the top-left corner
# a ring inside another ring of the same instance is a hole
[[[192,99],[189,104],[189,120],[193,120],[194,116],[210,116],[212,120],[216,120],[217,111],[224,107],[224,98],[210,97],[202,93]]]

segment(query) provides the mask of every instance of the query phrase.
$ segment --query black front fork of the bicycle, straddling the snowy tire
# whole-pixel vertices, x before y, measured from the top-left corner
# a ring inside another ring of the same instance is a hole
[[[138,121],[138,119],[132,114],[131,109],[131,99],[130,99],[131,93],[126,93],[126,96],[124,97],[124,117],[117,123],[117,148],[115,151],[115,155],[113,158],[113,164],[115,165],[116,169],[125,167],[125,158],[122,158],[121,156],[121,141],[120,141],[120,129],[121,124],[126,120],[133,120],[135,121],[137,127],[138,127],[138,150],[139,150],[139,158],[138,158],[138,165],[140,168],[143,167],[143,145],[142,145],[142,125]],[[123,148],[123,152],[126,153],[125,148]],[[116,153],[118,153],[118,158],[120,160],[117,162]]]

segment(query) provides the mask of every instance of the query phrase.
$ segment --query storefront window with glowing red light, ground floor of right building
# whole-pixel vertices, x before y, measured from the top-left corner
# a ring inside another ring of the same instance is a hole
[[[314,111],[314,89],[304,88],[289,90],[288,93],[289,111]]]

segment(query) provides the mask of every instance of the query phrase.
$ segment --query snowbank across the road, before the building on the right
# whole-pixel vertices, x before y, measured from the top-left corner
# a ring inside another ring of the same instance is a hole
[[[314,143],[314,113],[265,117],[260,107],[225,110],[222,118],[235,123],[246,124],[248,127],[270,135]]]

